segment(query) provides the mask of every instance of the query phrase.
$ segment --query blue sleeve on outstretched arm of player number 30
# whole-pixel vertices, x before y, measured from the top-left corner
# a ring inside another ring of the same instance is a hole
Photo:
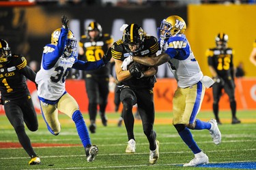
[[[73,69],[80,69],[80,70],[94,70],[94,69],[99,69],[100,67],[104,66],[104,62],[102,59],[99,61],[76,61],[74,65],[72,66]]]

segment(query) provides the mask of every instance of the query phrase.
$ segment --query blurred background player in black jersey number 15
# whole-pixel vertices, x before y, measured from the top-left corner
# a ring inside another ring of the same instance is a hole
[[[216,36],[216,48],[210,48],[206,52],[208,65],[215,83],[212,86],[214,97],[213,112],[218,124],[221,124],[218,116],[218,103],[222,96],[222,90],[229,96],[232,113],[232,124],[240,123],[236,117],[236,98],[235,98],[235,68],[233,65],[233,49],[227,47],[228,35],[218,33]]]

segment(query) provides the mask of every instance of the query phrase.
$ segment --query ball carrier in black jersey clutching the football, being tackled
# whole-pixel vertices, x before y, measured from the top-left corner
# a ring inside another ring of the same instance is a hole
[[[157,67],[144,67],[138,63],[131,63],[128,70],[122,70],[122,63],[130,56],[156,56],[159,45],[156,37],[145,35],[138,24],[129,24],[124,29],[122,39],[111,46],[111,55],[115,60],[117,80],[122,82],[120,99],[123,103],[124,124],[128,135],[126,153],[134,153],[136,141],[133,133],[134,116],[132,106],[137,103],[141,116],[143,132],[150,143],[150,164],[158,160],[159,142],[153,130],[155,109],[153,88],[156,83]]]

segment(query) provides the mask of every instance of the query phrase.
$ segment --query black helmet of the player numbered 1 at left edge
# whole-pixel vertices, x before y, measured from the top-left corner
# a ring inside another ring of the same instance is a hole
[[[10,62],[12,57],[11,48],[7,41],[0,39],[0,65],[4,66]]]

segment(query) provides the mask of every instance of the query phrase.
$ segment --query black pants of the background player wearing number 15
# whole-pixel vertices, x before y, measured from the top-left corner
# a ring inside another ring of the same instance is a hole
[[[217,121],[219,121],[218,117],[218,103],[221,99],[222,90],[224,88],[225,92],[229,96],[229,103],[231,107],[232,117],[236,118],[236,99],[235,99],[235,83],[233,80],[223,80],[224,82],[214,83],[212,86],[212,92],[214,97],[213,110],[214,116]]]

